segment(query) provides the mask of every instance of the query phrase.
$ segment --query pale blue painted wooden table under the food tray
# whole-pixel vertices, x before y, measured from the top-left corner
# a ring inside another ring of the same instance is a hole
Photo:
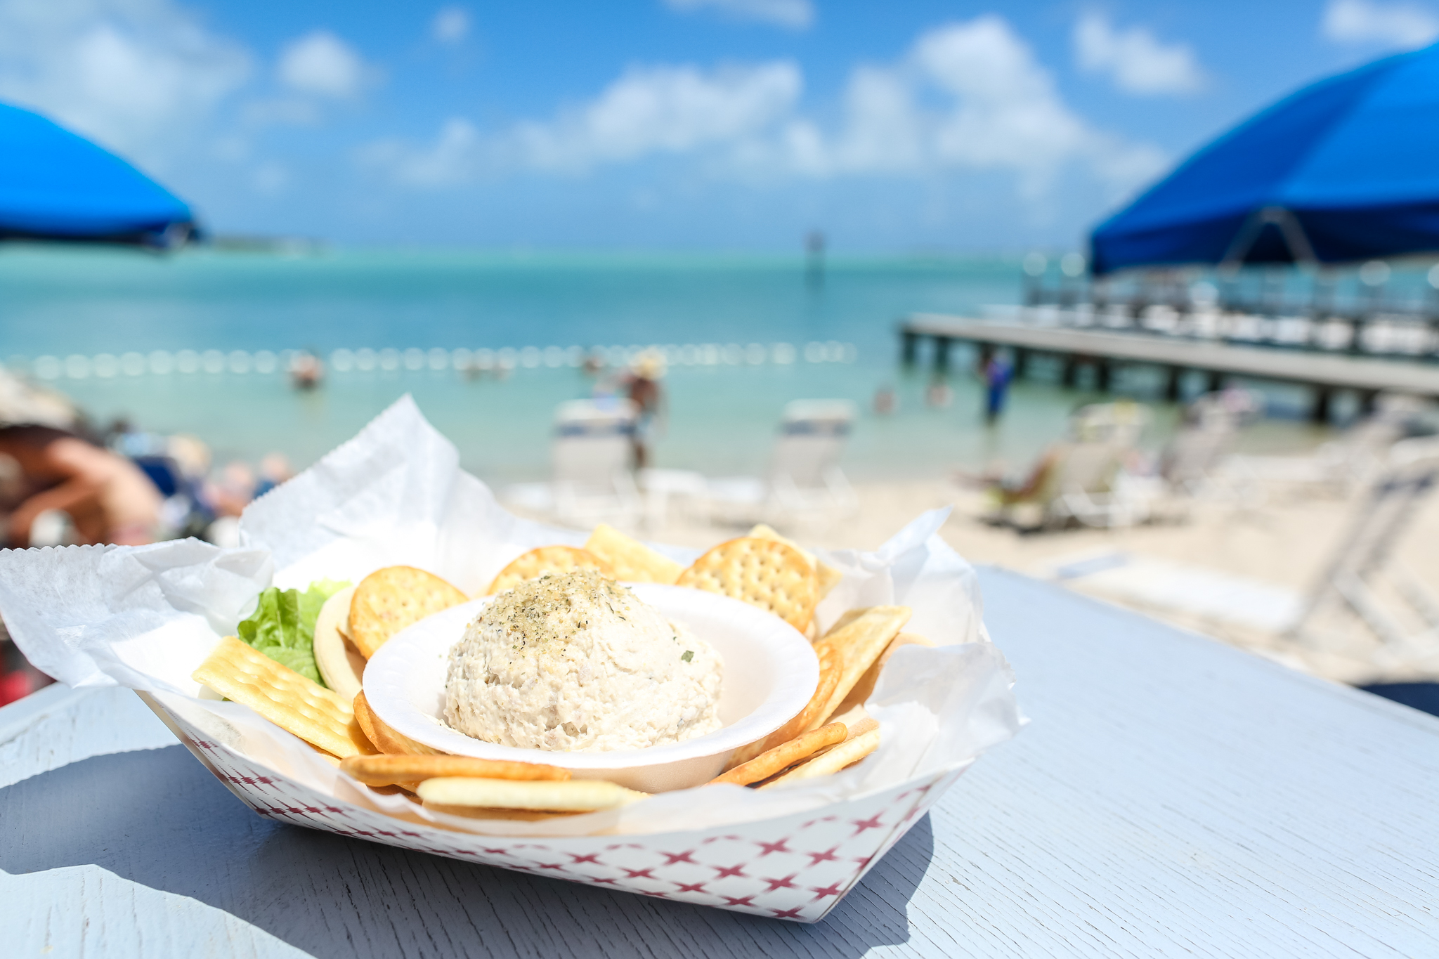
[[[7,956],[1439,956],[1439,719],[981,572],[1033,719],[799,926],[262,820],[128,690],[0,709]]]

